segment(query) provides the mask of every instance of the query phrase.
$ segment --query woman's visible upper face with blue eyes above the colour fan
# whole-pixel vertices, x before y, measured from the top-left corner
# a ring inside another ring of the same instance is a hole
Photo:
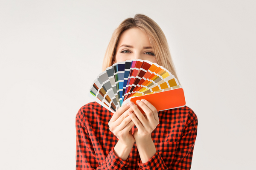
[[[148,35],[139,28],[125,30],[116,48],[116,59],[113,63],[132,59],[157,62]]]

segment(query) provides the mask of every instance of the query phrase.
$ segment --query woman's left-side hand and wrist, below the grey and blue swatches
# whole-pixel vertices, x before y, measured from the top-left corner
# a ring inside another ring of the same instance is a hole
[[[131,128],[134,126],[134,122],[128,116],[129,111],[131,111],[129,105],[122,105],[108,122],[109,130],[119,139],[114,147],[114,152],[116,156],[124,161],[128,158],[135,142],[131,134]]]

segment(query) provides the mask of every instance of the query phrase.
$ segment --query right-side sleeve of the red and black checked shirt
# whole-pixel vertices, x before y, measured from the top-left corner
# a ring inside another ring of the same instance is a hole
[[[190,170],[195,139],[197,136],[198,119],[193,111],[188,117],[187,126],[179,141],[174,159],[170,167],[166,167],[158,151],[145,163],[137,162],[143,170]]]

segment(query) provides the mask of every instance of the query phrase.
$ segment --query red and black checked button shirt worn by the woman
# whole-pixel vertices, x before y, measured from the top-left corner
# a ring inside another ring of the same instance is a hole
[[[158,112],[159,125],[152,132],[157,152],[145,163],[134,143],[123,161],[113,148],[118,139],[109,130],[113,113],[96,102],[81,107],[76,115],[77,170],[189,170],[197,135],[198,119],[187,106]],[[132,128],[134,132],[136,126]]]

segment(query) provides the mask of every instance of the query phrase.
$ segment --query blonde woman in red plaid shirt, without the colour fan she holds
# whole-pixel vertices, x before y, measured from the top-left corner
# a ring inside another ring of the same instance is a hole
[[[163,31],[145,15],[136,14],[116,28],[103,70],[128,59],[156,62],[177,78]],[[113,114],[90,102],[76,115],[76,169],[190,169],[197,125],[197,116],[187,106],[157,112],[142,99]]]

